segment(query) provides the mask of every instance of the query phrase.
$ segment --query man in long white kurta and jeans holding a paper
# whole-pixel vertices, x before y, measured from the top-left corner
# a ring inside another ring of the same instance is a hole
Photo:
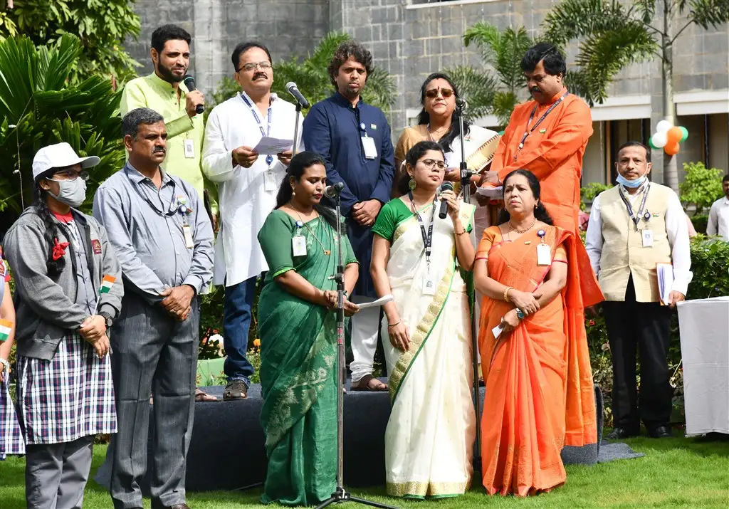
[[[254,368],[246,359],[256,279],[268,271],[258,230],[276,206],[291,149],[258,154],[263,136],[294,139],[295,106],[270,92],[273,69],[268,49],[241,43],[233,50],[235,81],[241,93],[216,106],[208,117],[203,172],[218,185],[220,231],[214,281],[225,281],[223,313],[226,400],[246,397]],[[299,126],[298,133],[301,133]],[[303,149],[300,139],[297,151]]]

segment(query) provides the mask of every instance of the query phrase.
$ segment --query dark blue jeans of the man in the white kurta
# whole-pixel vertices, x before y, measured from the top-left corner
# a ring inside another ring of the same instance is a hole
[[[246,359],[248,331],[251,327],[256,277],[225,287],[223,308],[223,346],[225,363],[223,372],[227,381],[243,380],[251,384],[253,366]]]

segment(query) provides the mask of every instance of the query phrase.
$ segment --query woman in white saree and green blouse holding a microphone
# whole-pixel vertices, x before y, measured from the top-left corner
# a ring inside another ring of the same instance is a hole
[[[470,486],[476,427],[461,276],[475,258],[469,238],[474,207],[450,190],[437,196],[445,174],[437,143],[419,142],[406,163],[405,195],[383,206],[373,227],[375,290],[378,297],[394,296],[382,324],[392,405],[385,433],[387,492],[455,497]],[[448,202],[445,219],[438,217],[441,200]]]

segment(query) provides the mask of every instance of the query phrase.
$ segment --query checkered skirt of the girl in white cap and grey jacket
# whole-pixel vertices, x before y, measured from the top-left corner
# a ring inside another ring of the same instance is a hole
[[[26,443],[117,432],[111,359],[99,359],[78,333],[63,338],[50,361],[18,357],[17,380]]]

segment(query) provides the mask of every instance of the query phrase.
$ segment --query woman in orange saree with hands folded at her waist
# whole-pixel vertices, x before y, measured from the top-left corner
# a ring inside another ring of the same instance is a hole
[[[563,446],[597,442],[588,304],[574,236],[552,225],[537,178],[517,170],[503,185],[506,210],[484,231],[474,268],[484,295],[481,461],[488,494],[526,496],[565,482]],[[586,290],[590,305],[601,299]]]

